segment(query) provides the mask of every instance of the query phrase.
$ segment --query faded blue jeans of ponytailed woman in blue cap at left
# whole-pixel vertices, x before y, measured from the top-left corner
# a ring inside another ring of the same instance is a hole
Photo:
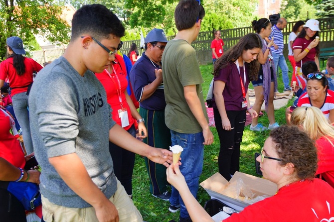
[[[12,96],[11,99],[13,101],[13,108],[17,121],[21,126],[25,151],[27,154],[30,154],[33,152],[33,146],[29,124],[28,96],[26,95],[26,92],[18,93]]]

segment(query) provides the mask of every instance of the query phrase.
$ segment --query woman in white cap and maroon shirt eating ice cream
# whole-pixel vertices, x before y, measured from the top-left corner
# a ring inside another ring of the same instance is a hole
[[[314,61],[320,70],[319,65],[319,21],[316,19],[310,19],[304,25],[304,28],[299,33],[292,49],[294,52],[294,58],[296,61],[296,77],[299,87],[304,89],[306,87],[306,79],[303,78],[302,65],[307,61]]]

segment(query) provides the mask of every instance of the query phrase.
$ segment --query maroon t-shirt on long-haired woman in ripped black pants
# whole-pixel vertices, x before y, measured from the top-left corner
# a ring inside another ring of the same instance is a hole
[[[240,65],[240,64],[239,64]],[[246,69],[246,84],[245,84],[245,94],[247,94],[248,85],[249,85],[249,64],[245,63]],[[244,80],[244,67],[240,67],[240,74],[242,82],[245,83]],[[246,110],[247,107],[241,108],[241,103],[244,101],[241,83],[240,83],[240,75],[237,69],[237,66],[234,62],[230,62],[226,67],[222,68],[219,71],[219,75],[213,78],[214,81],[221,80],[225,83],[225,88],[223,91],[223,97],[225,102],[226,111],[241,111]],[[214,83],[213,83],[214,87]],[[214,97],[212,99],[212,107],[217,108]]]

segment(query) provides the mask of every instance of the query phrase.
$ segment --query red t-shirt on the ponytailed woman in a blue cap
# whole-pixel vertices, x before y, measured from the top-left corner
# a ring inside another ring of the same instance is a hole
[[[39,72],[43,68],[30,58],[24,58],[24,65],[25,73],[19,76],[13,66],[13,57],[7,58],[0,63],[0,80],[4,81],[8,77],[9,85],[12,88],[11,96],[26,92],[28,89],[27,86],[32,83],[32,72]]]

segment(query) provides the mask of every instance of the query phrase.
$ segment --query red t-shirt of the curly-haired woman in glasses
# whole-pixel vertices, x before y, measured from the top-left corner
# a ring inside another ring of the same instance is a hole
[[[334,218],[334,189],[320,179],[282,187],[223,222],[325,222]],[[330,220],[332,219],[332,220]]]

